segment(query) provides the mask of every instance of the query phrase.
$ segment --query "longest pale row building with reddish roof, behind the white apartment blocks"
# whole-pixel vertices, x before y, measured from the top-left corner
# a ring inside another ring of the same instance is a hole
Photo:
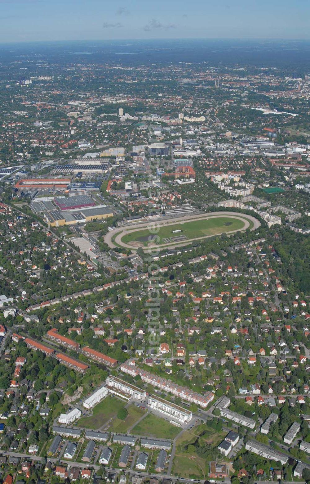
[[[148,371],[136,368],[130,363],[122,363],[120,369],[124,373],[128,373],[133,377],[140,375],[145,383],[149,383],[150,385],[160,388],[161,390],[165,390],[166,392],[171,392],[172,394],[182,398],[183,400],[187,400],[188,402],[200,405],[203,408],[206,408],[207,405],[212,402],[214,398],[214,395],[211,392],[207,392],[204,396],[202,396],[199,393],[192,392],[192,390],[189,390],[188,388],[181,387],[176,383],[172,383],[169,380],[158,377],[157,375],[153,375]]]

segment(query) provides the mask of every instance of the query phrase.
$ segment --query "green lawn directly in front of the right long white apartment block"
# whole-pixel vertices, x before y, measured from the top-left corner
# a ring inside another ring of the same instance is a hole
[[[174,439],[181,430],[180,427],[176,427],[172,423],[167,422],[167,420],[149,413],[133,427],[131,433],[133,435],[157,437],[158,439]]]

